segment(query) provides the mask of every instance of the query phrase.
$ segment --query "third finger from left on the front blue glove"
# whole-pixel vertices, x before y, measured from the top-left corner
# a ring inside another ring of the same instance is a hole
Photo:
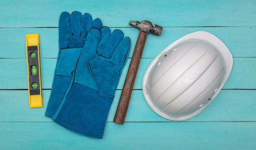
[[[103,53],[101,54],[103,57],[111,58],[118,44],[124,38],[124,33],[121,30],[114,30],[110,35],[110,39],[105,46]]]

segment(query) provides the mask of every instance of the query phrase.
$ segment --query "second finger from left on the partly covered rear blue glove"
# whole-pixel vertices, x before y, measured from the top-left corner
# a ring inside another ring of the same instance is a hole
[[[80,13],[79,11],[74,11],[71,14],[70,23],[71,23],[72,38],[74,40],[80,40],[81,19],[82,19],[82,13]]]

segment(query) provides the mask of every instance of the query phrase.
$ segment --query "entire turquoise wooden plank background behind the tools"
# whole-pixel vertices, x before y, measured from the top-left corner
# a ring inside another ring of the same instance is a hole
[[[80,11],[100,18],[132,40],[129,60],[110,108],[103,139],[70,132],[45,117],[58,54],[58,18]],[[163,26],[148,35],[126,122],[112,120],[139,30],[130,20]],[[192,119],[154,113],[142,93],[150,62],[166,46],[194,31],[208,31],[234,57],[231,75],[213,102]],[[25,35],[39,33],[43,107],[29,108]],[[256,0],[0,0],[1,150],[255,150]]]

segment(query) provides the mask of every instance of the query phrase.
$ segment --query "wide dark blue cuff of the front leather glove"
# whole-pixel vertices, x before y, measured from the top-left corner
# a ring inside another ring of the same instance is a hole
[[[80,135],[101,139],[113,99],[74,83],[52,120]]]

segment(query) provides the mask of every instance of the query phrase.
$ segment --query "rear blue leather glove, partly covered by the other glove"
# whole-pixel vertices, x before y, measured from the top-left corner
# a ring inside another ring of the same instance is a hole
[[[59,53],[45,116],[52,117],[72,83],[74,70],[83,49],[88,32],[101,29],[101,20],[92,21],[88,13],[74,11],[71,15],[63,12],[59,18]]]

